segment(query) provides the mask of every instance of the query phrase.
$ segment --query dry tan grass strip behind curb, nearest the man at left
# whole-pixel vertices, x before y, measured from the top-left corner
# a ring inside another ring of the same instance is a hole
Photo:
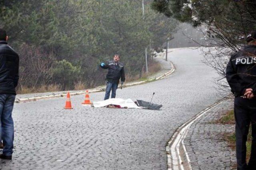
[[[32,87],[28,88],[26,86],[21,86],[20,89],[17,90],[18,94],[28,94],[28,93],[43,93],[43,92],[58,92],[60,91],[60,85],[52,84],[52,85],[42,85],[38,88]]]

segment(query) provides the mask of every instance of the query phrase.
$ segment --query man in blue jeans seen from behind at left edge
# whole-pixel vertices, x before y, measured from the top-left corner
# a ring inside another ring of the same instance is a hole
[[[7,45],[7,40],[6,31],[0,28],[0,136],[3,141],[1,159],[12,159],[14,140],[12,109],[19,79],[19,56]]]

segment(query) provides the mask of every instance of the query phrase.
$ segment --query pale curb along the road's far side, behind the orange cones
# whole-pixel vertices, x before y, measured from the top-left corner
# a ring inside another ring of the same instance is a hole
[[[165,53],[164,53],[165,54]],[[162,54],[162,55],[164,55]],[[136,85],[140,85],[140,84],[145,84],[147,82],[151,82],[154,80],[160,80],[162,78],[165,78],[166,76],[169,76],[170,74],[172,74],[175,71],[175,67],[174,64],[170,61],[170,64],[172,66],[172,69],[166,73],[164,73],[162,76],[159,76],[157,78],[154,79],[148,79],[148,80],[144,80],[144,81],[140,81],[140,82],[134,82],[134,83],[128,83],[125,84],[123,86],[123,88],[126,87],[130,87],[130,86],[136,86]],[[121,87],[120,85],[118,87]],[[96,92],[104,92],[106,89],[105,88],[94,88],[94,89],[88,89],[89,93],[96,93]],[[85,94],[86,90],[82,90],[80,92],[71,92],[70,96],[75,96],[75,95],[81,95],[81,94]],[[37,100],[47,100],[47,99],[52,99],[52,98],[60,98],[60,97],[64,97],[66,96],[66,93],[62,93],[62,94],[52,94],[52,95],[46,95],[46,96],[39,96],[39,97],[32,97],[32,98],[17,98],[15,99],[15,103],[22,103],[22,102],[32,102],[32,101],[37,101]]]

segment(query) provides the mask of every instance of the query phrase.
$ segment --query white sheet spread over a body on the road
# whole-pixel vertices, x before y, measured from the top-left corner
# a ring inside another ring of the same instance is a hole
[[[140,109],[140,107],[137,106],[130,98],[128,98],[126,100],[124,100],[122,98],[110,98],[110,99],[104,100],[104,101],[93,102],[93,106],[96,108],[108,106],[110,104],[120,105],[121,108],[127,107],[127,108]]]

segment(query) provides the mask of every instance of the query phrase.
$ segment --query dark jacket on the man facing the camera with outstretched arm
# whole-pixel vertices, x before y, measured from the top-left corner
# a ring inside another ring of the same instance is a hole
[[[108,61],[105,63],[105,66],[100,67],[103,69],[108,69],[106,80],[118,83],[119,79],[121,78],[121,82],[125,81],[124,64],[120,62],[115,63],[114,61]]]

